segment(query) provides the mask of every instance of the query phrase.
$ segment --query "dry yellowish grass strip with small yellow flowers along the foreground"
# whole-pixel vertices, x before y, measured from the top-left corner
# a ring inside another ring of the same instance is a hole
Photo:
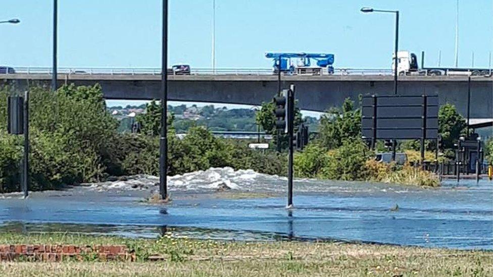
[[[232,242],[73,234],[0,233],[0,243],[126,245],[137,262],[4,262],[2,276],[449,276],[493,274],[491,251],[428,249],[335,242]],[[154,260],[154,261],[150,261]]]

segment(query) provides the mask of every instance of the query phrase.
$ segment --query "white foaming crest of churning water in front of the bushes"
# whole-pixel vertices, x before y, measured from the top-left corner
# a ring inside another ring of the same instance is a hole
[[[156,191],[159,177],[151,175],[134,175],[120,177],[116,181],[84,184],[95,191]],[[168,188],[181,192],[215,192],[233,190],[242,192],[273,192],[287,191],[287,178],[284,176],[267,175],[254,170],[234,170],[232,168],[210,168],[181,175],[168,177]],[[406,194],[423,191],[422,188],[396,186],[367,182],[330,181],[316,179],[295,179],[293,189],[297,193],[320,193],[322,195],[337,193],[344,195],[395,193]]]

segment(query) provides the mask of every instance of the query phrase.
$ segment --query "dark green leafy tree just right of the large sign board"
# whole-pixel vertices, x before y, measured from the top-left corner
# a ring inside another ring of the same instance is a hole
[[[454,148],[454,143],[459,137],[466,135],[466,126],[466,120],[457,112],[453,104],[447,103],[440,106],[438,110],[438,134],[441,135],[444,148]]]

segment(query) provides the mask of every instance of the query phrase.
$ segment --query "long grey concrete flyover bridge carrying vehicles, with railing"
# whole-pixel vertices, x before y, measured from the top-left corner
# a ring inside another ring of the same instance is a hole
[[[158,69],[59,69],[59,84],[101,84],[107,99],[159,99]],[[0,83],[49,85],[50,69],[18,69],[0,74]],[[471,79],[471,118],[493,118],[493,78]],[[322,112],[360,94],[393,94],[393,77],[387,70],[336,70],[334,75],[282,76],[282,88],[297,86],[299,106]],[[169,100],[258,105],[271,101],[277,90],[272,70],[193,70],[190,75],[169,76]],[[399,76],[399,94],[438,93],[439,103],[452,103],[467,111],[467,76]]]

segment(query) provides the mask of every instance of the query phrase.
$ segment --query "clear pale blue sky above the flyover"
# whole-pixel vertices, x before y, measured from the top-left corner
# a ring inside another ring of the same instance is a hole
[[[212,0],[169,0],[169,63],[211,67]],[[488,67],[491,0],[459,2],[459,66]],[[400,49],[426,52],[426,65],[454,65],[455,0],[216,0],[217,68],[268,68],[266,51],[328,52],[337,67],[390,68],[392,14]],[[51,0],[3,0],[0,64],[51,66]],[[160,67],[161,0],[59,1],[60,67]]]

